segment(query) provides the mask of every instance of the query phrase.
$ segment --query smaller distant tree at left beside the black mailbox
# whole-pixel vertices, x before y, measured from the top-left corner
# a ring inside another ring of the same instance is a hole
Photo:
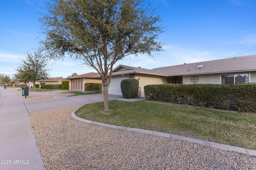
[[[17,71],[14,74],[15,79],[25,82],[25,84],[27,81],[32,82],[34,84],[34,91],[36,92],[36,81],[47,79],[49,76],[49,69],[46,69],[48,59],[40,51],[36,51],[34,55],[27,52],[26,58],[20,61],[20,66],[15,69]]]

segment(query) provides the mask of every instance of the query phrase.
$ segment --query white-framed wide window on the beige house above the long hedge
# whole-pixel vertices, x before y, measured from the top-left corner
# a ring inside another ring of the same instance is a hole
[[[249,83],[250,74],[227,74],[221,75],[221,84]]]

